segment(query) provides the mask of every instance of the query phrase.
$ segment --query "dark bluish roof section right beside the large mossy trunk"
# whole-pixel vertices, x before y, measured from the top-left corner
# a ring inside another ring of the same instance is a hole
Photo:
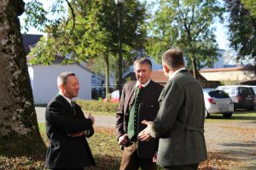
[[[25,48],[25,53],[29,54],[30,49],[35,47],[36,43],[40,40],[43,35],[36,34],[22,34],[23,44]]]

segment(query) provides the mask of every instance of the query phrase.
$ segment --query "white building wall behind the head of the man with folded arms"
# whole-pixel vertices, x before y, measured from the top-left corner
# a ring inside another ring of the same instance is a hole
[[[78,65],[36,65],[32,70],[35,104],[47,104],[58,93],[57,77],[64,71],[71,71],[79,78],[79,98],[91,99],[91,73]]]

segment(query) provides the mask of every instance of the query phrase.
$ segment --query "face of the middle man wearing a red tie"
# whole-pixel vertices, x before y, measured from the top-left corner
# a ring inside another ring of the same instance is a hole
[[[151,70],[148,68],[148,65],[135,65],[135,75],[141,84],[148,82],[151,75]]]

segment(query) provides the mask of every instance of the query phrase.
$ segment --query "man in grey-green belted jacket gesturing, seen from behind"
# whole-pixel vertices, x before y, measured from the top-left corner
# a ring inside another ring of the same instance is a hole
[[[207,159],[205,105],[200,83],[184,67],[183,54],[170,48],[162,56],[169,81],[160,94],[160,110],[138,139],[160,138],[157,164],[165,169],[197,169]]]

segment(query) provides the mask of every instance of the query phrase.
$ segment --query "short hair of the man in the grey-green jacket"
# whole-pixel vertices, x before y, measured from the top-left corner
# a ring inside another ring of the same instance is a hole
[[[184,65],[183,53],[179,48],[170,48],[162,56],[163,62],[169,66],[170,69],[177,68]]]

